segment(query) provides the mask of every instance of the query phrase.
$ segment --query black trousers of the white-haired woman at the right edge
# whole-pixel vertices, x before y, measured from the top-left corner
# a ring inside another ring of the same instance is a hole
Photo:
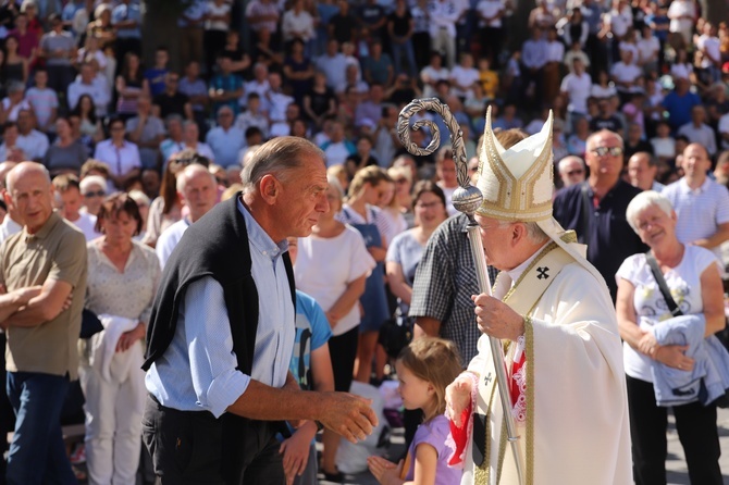
[[[633,475],[637,485],[666,484],[668,408],[656,406],[653,384],[627,376]],[[716,406],[701,402],[676,406],[676,430],[692,484],[721,485]]]

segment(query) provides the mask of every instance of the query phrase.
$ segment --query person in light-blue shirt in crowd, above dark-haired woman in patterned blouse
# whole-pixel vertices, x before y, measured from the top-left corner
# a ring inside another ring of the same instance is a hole
[[[129,178],[139,176],[139,148],[125,139],[124,121],[120,117],[109,121],[109,135],[96,146],[94,158],[109,165],[109,178],[121,189]]]

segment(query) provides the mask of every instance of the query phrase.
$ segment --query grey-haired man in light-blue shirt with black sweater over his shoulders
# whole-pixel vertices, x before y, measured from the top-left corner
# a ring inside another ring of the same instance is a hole
[[[302,391],[288,372],[286,238],[308,236],[329,208],[322,151],[275,138],[242,179],[242,194],[185,232],[155,301],[143,424],[162,484],[284,483],[277,420],[316,420],[351,442],[376,424],[368,400]]]

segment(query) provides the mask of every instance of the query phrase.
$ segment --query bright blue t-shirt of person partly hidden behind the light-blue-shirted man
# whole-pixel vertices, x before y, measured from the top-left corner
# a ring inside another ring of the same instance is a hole
[[[296,290],[296,338],[294,353],[288,370],[301,386],[312,390],[311,351],[326,344],[332,337],[332,327],[324,315],[324,310],[317,301],[304,291]]]

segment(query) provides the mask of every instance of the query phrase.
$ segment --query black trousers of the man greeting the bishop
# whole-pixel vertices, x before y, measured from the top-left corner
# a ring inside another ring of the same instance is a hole
[[[225,416],[166,408],[148,395],[143,437],[161,485],[282,485],[276,425],[247,421],[238,453],[225,442]]]

